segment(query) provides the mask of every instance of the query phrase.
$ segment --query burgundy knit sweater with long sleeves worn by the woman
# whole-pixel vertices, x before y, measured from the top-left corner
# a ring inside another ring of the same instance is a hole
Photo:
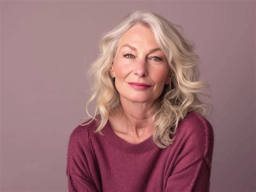
[[[214,135],[210,122],[197,112],[179,121],[173,144],[164,149],[152,135],[138,144],[126,142],[109,120],[104,135],[93,133],[95,128],[93,121],[70,135],[69,191],[209,191]]]

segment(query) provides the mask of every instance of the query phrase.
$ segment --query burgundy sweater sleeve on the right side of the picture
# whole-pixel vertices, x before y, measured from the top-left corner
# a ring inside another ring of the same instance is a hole
[[[210,190],[213,129],[204,118],[191,118],[182,127],[177,159],[164,191],[208,192]]]

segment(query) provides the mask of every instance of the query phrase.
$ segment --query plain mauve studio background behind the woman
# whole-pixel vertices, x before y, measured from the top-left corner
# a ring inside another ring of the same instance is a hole
[[[99,37],[140,7],[196,44],[214,107],[210,191],[255,191],[254,1],[1,1],[1,191],[68,191]]]

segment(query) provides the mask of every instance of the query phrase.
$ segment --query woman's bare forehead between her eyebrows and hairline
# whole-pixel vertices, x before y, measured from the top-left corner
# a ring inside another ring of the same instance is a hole
[[[148,46],[158,47],[154,33],[151,29],[141,24],[136,24],[127,30],[124,35],[120,38],[118,47],[126,44],[146,44]]]

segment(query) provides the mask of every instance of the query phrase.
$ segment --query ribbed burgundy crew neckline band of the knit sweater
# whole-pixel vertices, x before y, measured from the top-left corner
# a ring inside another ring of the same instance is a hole
[[[122,149],[127,153],[141,154],[151,150],[154,147],[157,147],[157,145],[153,142],[153,135],[151,135],[146,140],[136,144],[123,140],[116,133],[114,133],[109,119],[102,129],[102,132],[104,134],[104,138],[109,141],[111,145]]]

